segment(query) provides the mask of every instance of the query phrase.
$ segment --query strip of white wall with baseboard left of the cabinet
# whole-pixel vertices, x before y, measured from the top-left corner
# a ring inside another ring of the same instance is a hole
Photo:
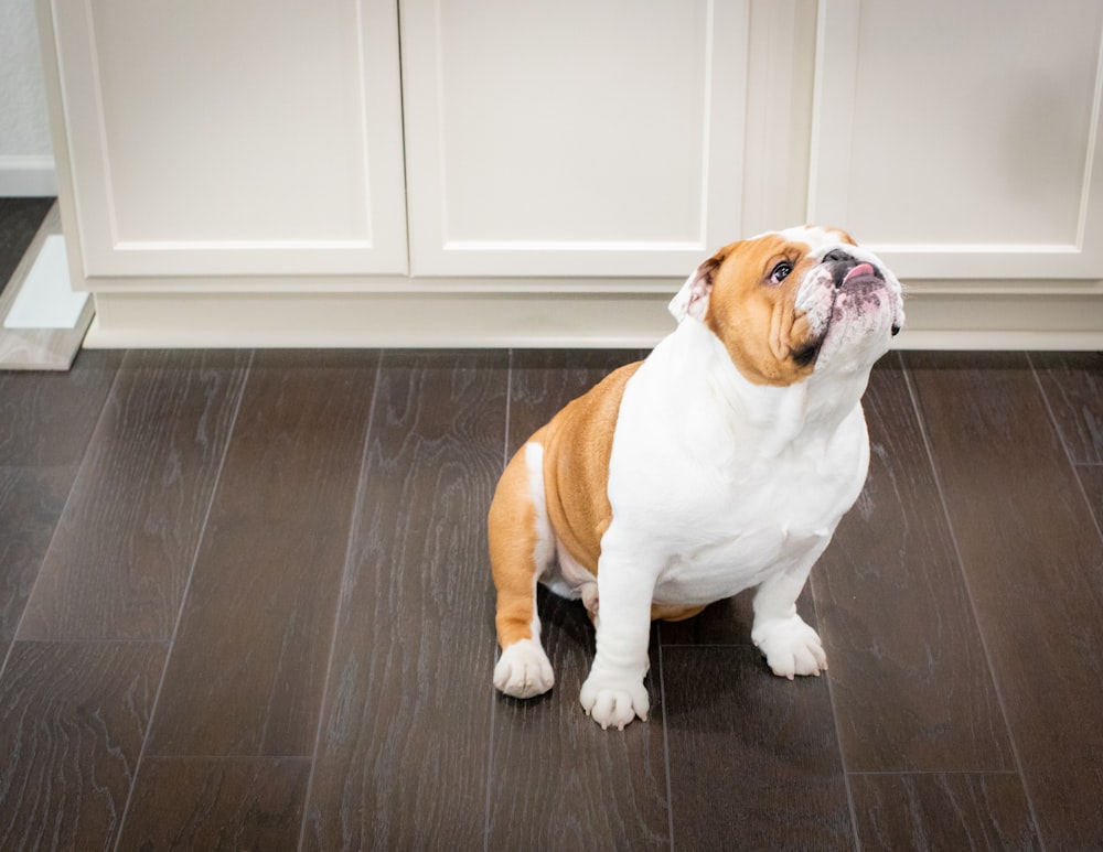
[[[55,195],[34,0],[0,2],[0,196]]]

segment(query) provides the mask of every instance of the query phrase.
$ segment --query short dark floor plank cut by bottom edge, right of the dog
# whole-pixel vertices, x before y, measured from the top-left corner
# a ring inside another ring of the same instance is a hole
[[[1018,775],[850,777],[861,849],[1041,849]]]

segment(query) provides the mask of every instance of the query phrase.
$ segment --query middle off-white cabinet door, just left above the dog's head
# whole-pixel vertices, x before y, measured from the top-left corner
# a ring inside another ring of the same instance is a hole
[[[417,274],[685,276],[739,233],[748,3],[403,0]]]

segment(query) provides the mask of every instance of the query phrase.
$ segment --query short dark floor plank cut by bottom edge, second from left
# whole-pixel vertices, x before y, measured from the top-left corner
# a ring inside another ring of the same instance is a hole
[[[304,757],[147,757],[118,848],[295,849],[309,777]]]

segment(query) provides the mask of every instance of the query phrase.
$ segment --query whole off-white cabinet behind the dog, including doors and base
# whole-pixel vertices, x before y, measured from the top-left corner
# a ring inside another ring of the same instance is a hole
[[[811,220],[1103,346],[1100,0],[38,2],[97,345],[646,345]]]

